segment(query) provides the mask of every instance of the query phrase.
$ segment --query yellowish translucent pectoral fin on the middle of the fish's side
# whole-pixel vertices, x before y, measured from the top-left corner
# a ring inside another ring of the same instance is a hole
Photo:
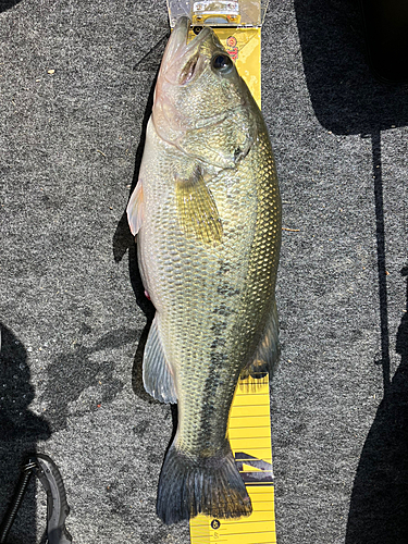
[[[178,223],[187,236],[206,244],[221,242],[222,223],[217,203],[199,168],[189,180],[175,185]]]

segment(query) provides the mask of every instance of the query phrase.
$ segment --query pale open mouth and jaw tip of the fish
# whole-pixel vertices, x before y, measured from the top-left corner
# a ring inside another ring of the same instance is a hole
[[[190,20],[180,17],[165,48],[159,78],[169,83],[186,85],[202,71],[202,59],[199,54],[201,45],[213,35],[213,30],[205,26],[188,44]],[[200,70],[201,69],[201,70]]]

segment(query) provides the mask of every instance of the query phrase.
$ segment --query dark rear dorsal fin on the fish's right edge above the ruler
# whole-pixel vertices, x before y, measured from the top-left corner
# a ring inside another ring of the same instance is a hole
[[[272,311],[269,316],[263,336],[255,353],[254,359],[240,374],[242,379],[249,375],[255,379],[270,378],[276,368],[281,349],[279,344],[279,319],[276,302],[273,302]]]

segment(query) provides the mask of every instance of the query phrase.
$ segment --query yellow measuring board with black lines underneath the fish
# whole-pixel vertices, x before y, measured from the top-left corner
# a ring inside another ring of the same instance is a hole
[[[261,28],[213,28],[261,107]],[[190,520],[191,544],[276,544],[269,381],[239,380],[228,419],[235,462],[252,503],[238,519],[199,515]]]

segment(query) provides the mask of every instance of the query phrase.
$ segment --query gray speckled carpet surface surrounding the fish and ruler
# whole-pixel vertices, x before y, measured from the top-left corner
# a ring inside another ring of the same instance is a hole
[[[184,544],[187,524],[154,514],[173,424],[133,370],[146,318],[123,221],[165,2],[0,10],[0,519],[36,449],[64,478],[74,543]],[[262,47],[292,230],[271,395],[277,541],[403,544],[407,88],[371,76],[353,2],[272,1]],[[10,542],[41,540],[45,505],[32,485]]]

